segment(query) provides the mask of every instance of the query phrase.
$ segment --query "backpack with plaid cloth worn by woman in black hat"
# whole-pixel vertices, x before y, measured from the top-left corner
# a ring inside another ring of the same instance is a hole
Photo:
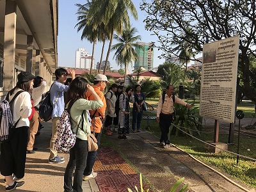
[[[11,106],[12,102],[18,97],[20,93],[24,92],[23,90],[20,90],[17,92],[13,99],[8,102],[9,100],[9,92],[6,95],[6,99],[4,99],[0,103],[0,141],[1,143],[4,143],[6,141],[9,141],[10,138],[12,138],[13,131],[15,130],[15,127],[17,126],[19,120],[15,124],[13,124],[12,120],[12,112],[11,112]]]

